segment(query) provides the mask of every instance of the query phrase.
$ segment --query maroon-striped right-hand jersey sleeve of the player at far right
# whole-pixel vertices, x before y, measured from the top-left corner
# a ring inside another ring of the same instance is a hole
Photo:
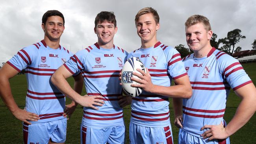
[[[252,80],[249,78],[248,74],[246,74],[243,66],[234,57],[224,54],[219,57],[218,63],[222,76],[233,90],[237,90],[244,85],[252,83]]]

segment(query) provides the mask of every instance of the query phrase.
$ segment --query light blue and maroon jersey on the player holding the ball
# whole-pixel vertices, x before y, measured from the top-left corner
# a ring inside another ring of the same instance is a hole
[[[161,86],[170,86],[172,79],[186,76],[184,64],[180,54],[170,46],[157,42],[151,48],[139,48],[127,57],[138,57],[148,68],[152,83]],[[166,127],[169,120],[169,99],[143,91],[132,100],[131,122],[145,127]]]

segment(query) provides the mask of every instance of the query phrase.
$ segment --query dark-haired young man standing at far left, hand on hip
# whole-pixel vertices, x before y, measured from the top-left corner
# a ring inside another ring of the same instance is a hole
[[[59,11],[47,11],[42,18],[45,37],[23,48],[0,69],[0,95],[13,115],[23,121],[24,144],[64,143],[67,115],[75,110],[72,102],[66,106],[65,95],[50,82],[50,76],[72,54],[59,45],[65,29],[65,20]],[[25,109],[20,109],[11,94],[9,79],[25,69],[28,82]],[[74,90],[82,91],[82,74],[74,76]],[[50,140],[50,141],[49,141]]]

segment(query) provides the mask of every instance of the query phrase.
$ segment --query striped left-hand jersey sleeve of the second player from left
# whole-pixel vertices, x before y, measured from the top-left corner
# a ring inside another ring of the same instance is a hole
[[[86,55],[85,51],[81,50],[70,57],[70,59],[63,65],[73,76],[76,76],[84,69]]]

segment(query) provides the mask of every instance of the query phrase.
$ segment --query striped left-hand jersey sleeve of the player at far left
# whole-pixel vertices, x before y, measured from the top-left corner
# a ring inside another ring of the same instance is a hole
[[[31,65],[33,61],[33,55],[37,54],[37,50],[37,47],[35,47],[34,45],[22,48],[16,55],[14,55],[6,63],[11,65],[18,72],[20,72],[21,70]]]

